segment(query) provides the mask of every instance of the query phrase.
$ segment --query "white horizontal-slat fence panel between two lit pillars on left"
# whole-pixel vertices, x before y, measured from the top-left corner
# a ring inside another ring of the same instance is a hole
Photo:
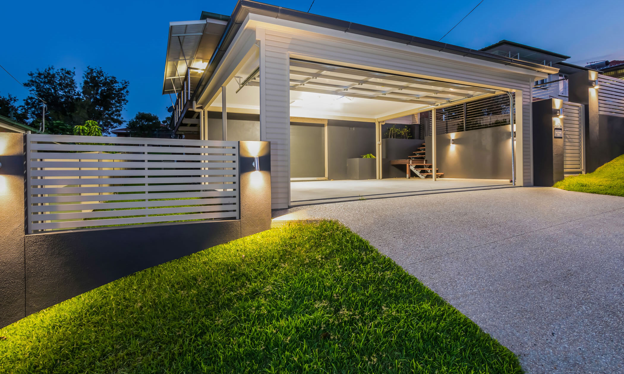
[[[238,219],[238,142],[26,137],[29,233]]]

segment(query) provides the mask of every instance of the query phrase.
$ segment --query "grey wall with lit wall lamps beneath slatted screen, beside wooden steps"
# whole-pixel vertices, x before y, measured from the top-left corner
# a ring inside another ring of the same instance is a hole
[[[454,145],[451,137],[455,138]],[[511,179],[509,126],[437,135],[436,145],[442,178]]]

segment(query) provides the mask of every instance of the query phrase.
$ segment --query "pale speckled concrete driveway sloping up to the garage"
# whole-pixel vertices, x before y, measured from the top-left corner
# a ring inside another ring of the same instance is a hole
[[[624,198],[505,188],[273,216],[338,219],[515,352],[527,373],[624,372]]]

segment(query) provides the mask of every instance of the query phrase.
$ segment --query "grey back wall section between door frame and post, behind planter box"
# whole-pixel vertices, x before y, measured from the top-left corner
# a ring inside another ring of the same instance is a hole
[[[328,179],[347,179],[347,159],[375,154],[375,124],[328,120]]]

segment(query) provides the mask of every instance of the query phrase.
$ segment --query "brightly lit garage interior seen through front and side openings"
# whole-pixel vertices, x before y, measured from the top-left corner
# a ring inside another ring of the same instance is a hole
[[[257,56],[209,105],[185,137],[260,140]],[[509,108],[503,91],[291,58],[291,205],[512,186]]]

